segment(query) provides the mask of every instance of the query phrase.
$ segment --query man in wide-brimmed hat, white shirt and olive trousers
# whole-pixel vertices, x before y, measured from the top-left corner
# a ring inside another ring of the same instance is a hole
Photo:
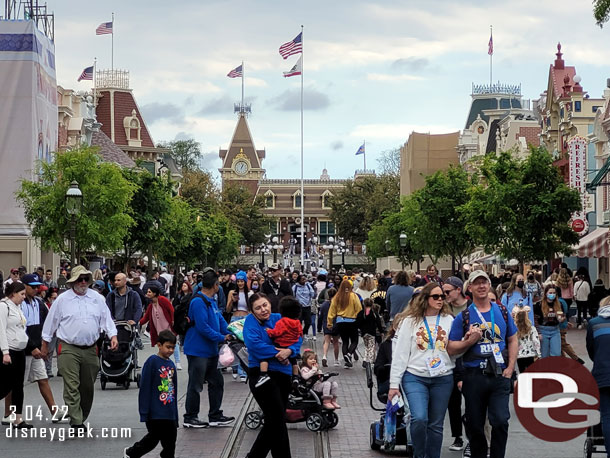
[[[68,406],[70,426],[86,429],[84,423],[93,405],[95,378],[100,369],[96,342],[100,330],[110,338],[110,349],[118,348],[117,330],[104,297],[89,289],[92,274],[75,266],[66,282],[69,290],[60,294],[49,310],[42,328],[42,357],[57,334],[62,349],[57,365],[64,381],[64,402]]]

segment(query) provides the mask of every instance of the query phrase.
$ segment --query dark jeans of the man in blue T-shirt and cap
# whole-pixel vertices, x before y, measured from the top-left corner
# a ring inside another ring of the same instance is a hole
[[[472,458],[487,458],[485,418],[491,425],[491,458],[504,458],[508,440],[511,379],[485,375],[478,368],[465,368],[462,385],[466,406],[466,434]]]

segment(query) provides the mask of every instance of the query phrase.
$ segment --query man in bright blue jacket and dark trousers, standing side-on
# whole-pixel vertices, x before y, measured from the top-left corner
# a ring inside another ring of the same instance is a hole
[[[229,426],[234,417],[226,417],[221,410],[224,379],[218,369],[218,345],[231,338],[227,322],[218,309],[218,275],[211,268],[203,271],[201,291],[193,296],[189,306],[189,319],[194,323],[184,337],[184,354],[188,358],[189,381],[186,390],[184,413],[185,428]],[[200,393],[203,382],[208,384],[210,411],[208,422],[199,420]]]

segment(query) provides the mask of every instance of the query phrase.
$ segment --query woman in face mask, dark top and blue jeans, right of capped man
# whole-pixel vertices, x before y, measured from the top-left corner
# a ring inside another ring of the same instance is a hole
[[[544,297],[534,305],[534,316],[536,327],[542,337],[540,349],[542,357],[561,356],[559,326],[566,317],[553,285],[544,288]]]

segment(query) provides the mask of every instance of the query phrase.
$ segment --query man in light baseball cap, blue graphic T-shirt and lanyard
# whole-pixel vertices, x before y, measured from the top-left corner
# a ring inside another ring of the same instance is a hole
[[[504,306],[489,300],[491,281],[483,270],[468,278],[473,303],[460,312],[449,333],[447,352],[462,355],[467,432],[473,458],[486,458],[485,418],[491,424],[491,456],[503,458],[508,439],[508,402],[517,361],[517,328]]]

